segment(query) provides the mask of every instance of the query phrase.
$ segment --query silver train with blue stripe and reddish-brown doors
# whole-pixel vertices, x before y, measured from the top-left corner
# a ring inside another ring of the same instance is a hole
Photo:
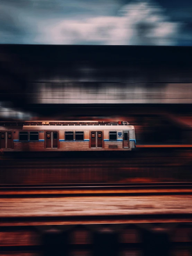
[[[131,151],[134,126],[126,121],[0,122],[1,151]]]

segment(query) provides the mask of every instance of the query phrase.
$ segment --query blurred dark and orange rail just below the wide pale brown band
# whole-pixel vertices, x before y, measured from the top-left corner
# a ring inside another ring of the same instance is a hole
[[[192,222],[192,213],[0,217],[0,227],[158,222]]]

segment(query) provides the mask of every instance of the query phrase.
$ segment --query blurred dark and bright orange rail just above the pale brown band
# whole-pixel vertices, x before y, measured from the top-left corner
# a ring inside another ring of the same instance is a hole
[[[0,198],[191,195],[192,182],[1,185]]]

